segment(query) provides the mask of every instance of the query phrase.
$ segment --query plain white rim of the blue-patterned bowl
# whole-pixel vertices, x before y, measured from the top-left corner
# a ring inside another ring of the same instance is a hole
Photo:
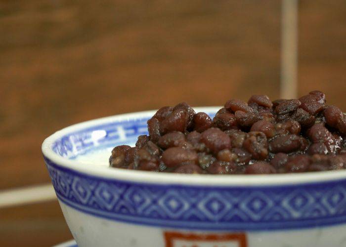
[[[193,108],[196,112],[216,112],[220,109],[219,106]],[[86,173],[91,176],[152,184],[179,184],[196,186],[269,186],[328,182],[346,179],[346,170],[261,175],[176,174],[127,170],[112,168],[104,165],[93,165],[94,163],[79,162],[78,160],[69,160],[65,157],[59,156],[52,150],[52,144],[54,141],[71,132],[81,131],[94,125],[116,123],[129,119],[148,118],[152,117],[155,112],[156,110],[120,114],[70,125],[56,131],[43,141],[43,156],[57,166],[72,169],[76,172]]]

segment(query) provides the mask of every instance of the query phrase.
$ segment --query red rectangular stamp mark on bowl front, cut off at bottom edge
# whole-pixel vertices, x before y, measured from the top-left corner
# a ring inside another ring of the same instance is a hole
[[[244,233],[195,234],[165,232],[166,247],[247,247]]]

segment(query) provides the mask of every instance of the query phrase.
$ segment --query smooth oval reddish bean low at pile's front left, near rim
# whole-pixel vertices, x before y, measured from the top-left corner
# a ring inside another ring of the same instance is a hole
[[[184,162],[197,162],[197,153],[190,150],[185,150],[180,147],[166,149],[162,154],[162,161],[167,167],[181,165]]]

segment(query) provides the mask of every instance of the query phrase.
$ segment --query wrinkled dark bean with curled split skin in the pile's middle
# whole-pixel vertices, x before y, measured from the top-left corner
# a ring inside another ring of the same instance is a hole
[[[253,159],[264,160],[268,156],[268,142],[263,132],[249,132],[249,137],[244,141],[243,147],[252,155]]]

